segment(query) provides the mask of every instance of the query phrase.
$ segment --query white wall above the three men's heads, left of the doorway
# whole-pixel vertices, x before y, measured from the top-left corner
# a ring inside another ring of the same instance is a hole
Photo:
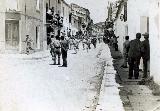
[[[136,33],[141,32],[141,17],[149,16],[150,0],[128,0],[128,34],[130,39],[136,38]]]

